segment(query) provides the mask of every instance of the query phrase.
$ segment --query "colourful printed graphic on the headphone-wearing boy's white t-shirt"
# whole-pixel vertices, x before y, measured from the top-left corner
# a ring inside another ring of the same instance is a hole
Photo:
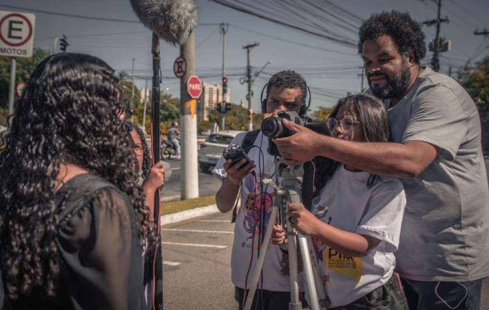
[[[270,175],[264,174],[263,178],[270,178]],[[242,212],[244,212],[242,225],[244,230],[250,234],[249,237],[246,238],[246,243],[243,242],[243,247],[249,247],[250,245],[247,243],[251,242],[253,237],[259,234],[260,229],[262,229],[261,234],[263,236],[267,232],[267,224],[270,219],[273,207],[273,196],[275,193],[266,192],[266,187],[263,188],[263,192],[258,192],[262,189],[262,186],[256,184],[255,177],[251,174],[248,174],[244,178],[243,186],[247,195],[242,208]],[[269,189],[270,187],[271,186],[268,186],[267,188]],[[255,242],[255,245],[258,245],[258,242]]]

